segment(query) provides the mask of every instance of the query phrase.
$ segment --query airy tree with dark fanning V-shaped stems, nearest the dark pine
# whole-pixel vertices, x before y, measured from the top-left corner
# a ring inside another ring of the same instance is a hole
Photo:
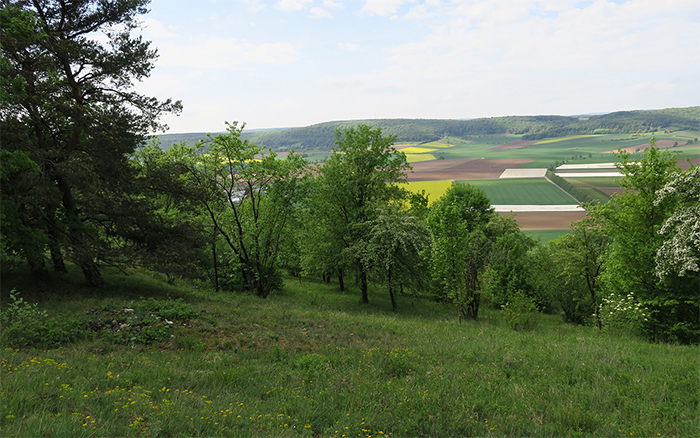
[[[210,224],[233,256],[242,283],[261,298],[280,286],[278,255],[299,193],[306,160],[241,140],[237,123],[196,147],[168,152],[186,172]]]

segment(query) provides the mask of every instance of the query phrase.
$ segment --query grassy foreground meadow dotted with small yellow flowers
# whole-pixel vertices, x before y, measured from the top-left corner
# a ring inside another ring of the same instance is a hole
[[[138,312],[140,296],[181,299],[189,317],[152,343],[86,332],[59,347],[5,348],[3,436],[700,433],[697,346],[649,344],[557,315],[516,332],[486,305],[460,325],[448,305],[400,296],[392,313],[377,286],[362,305],[356,288],[308,278],[287,278],[267,300],[143,272],[106,278],[102,290],[66,279],[42,293],[4,273],[3,306],[16,287],[55,318]]]

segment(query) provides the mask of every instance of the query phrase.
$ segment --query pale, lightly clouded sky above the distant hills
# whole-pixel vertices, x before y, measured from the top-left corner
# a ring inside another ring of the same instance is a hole
[[[170,133],[700,105],[698,0],[152,0]]]

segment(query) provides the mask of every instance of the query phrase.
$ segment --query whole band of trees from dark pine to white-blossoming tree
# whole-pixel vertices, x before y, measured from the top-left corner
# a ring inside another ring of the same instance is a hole
[[[410,167],[378,126],[335,128],[315,164],[237,123],[164,151],[145,140],[180,103],[132,87],[156,56],[130,35],[146,3],[3,3],[3,264],[23,260],[45,288],[70,261],[96,287],[105,266],[140,267],[261,298],[286,270],[356,285],[363,303],[388,293],[395,310],[413,294],[452,303],[460,321],[483,305],[537,309],[698,342],[697,167],[653,146],[621,153],[625,193],[540,245],[473,186],[432,205],[402,190]]]

